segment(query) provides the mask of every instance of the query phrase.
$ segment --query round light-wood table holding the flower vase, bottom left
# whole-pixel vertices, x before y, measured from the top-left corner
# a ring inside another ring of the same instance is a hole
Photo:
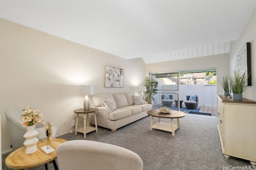
[[[11,169],[28,169],[45,164],[47,169],[47,163],[52,162],[54,169],[58,170],[58,166],[55,162],[57,158],[56,148],[66,141],[66,139],[52,139],[50,146],[55,149],[55,151],[49,154],[41,150],[41,147],[47,145],[47,140],[38,141],[36,144],[38,149],[32,154],[25,154],[26,147],[20,147],[6,157],[5,164]]]

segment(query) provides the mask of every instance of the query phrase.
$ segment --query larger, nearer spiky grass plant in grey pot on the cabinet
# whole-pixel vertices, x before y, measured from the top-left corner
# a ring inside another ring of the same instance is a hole
[[[243,100],[244,85],[247,81],[246,72],[239,74],[236,70],[230,80],[230,88],[233,93],[233,100]]]

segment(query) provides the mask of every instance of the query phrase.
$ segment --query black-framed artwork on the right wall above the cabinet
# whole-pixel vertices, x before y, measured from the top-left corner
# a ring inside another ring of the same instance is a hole
[[[245,86],[252,86],[250,43],[246,43],[236,55],[236,71],[239,74],[246,72],[246,77],[248,77],[248,79]]]

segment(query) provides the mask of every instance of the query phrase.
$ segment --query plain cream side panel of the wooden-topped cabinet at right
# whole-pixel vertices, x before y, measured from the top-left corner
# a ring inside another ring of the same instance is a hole
[[[256,107],[225,104],[225,109],[226,153],[256,160]]]

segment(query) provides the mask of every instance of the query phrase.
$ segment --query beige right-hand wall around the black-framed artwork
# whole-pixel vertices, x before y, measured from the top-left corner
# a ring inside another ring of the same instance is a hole
[[[248,86],[243,93],[243,97],[256,101],[256,9],[252,13],[249,21],[237,41],[230,44],[230,69],[235,70],[236,55],[247,42],[251,43],[251,67],[252,86]]]

